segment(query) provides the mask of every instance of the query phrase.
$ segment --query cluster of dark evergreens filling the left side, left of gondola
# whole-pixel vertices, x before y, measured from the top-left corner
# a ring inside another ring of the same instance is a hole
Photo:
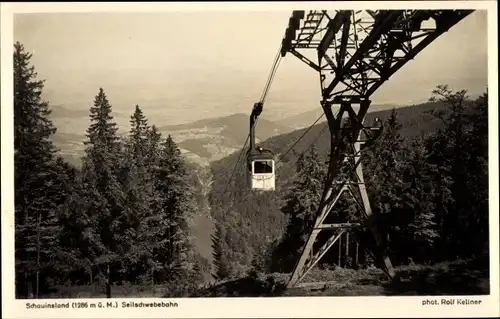
[[[56,128],[30,58],[16,43],[17,297],[44,296],[55,286],[87,286],[108,297],[124,285],[162,285],[174,296],[197,288],[207,265],[188,232],[198,209],[192,168],[171,136],[136,106],[129,134],[119,138],[100,88],[81,168],[72,167],[56,153]]]

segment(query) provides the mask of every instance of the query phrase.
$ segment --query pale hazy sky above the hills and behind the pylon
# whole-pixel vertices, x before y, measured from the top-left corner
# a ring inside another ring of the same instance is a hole
[[[54,108],[82,113],[102,87],[118,122],[128,122],[139,104],[163,126],[249,113],[289,16],[289,11],[17,14],[14,40],[33,53],[38,76],[46,79],[44,97]],[[486,11],[476,11],[434,41],[373,95],[373,103],[422,102],[442,83],[482,93],[486,18]],[[289,54],[263,116],[292,116],[319,107],[319,99],[317,73]]]

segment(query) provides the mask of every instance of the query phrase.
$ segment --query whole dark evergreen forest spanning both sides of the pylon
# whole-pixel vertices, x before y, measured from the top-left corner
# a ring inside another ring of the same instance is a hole
[[[277,291],[276,279],[291,272],[323,191],[325,123],[289,152],[304,130],[263,143],[277,154],[275,192],[249,192],[245,165],[228,184],[236,152],[213,163],[214,183],[204,197],[195,168],[140,106],[128,134],[118,135],[112,103],[99,88],[89,106],[82,165],[74,167],[53,144],[56,128],[31,54],[20,43],[14,48],[17,298],[114,297],[127,289],[151,296],[153,288],[160,296]],[[384,121],[363,159],[376,222],[398,270],[439,265],[487,280],[488,95],[470,100],[444,85],[430,95],[427,104],[368,116]],[[207,207],[216,223],[214,271],[190,233],[193,216]],[[354,210],[343,200],[335,214],[355,221]],[[313,276],[372,271],[370,239],[355,237],[347,241],[350,253],[345,242],[332,249]],[[469,288],[464,293],[475,293]]]

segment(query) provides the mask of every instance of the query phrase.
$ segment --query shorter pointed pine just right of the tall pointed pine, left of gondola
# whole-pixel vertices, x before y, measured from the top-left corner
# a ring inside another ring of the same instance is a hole
[[[156,235],[160,232],[160,216],[154,210],[155,185],[153,176],[158,169],[161,134],[156,127],[148,126],[142,110],[136,105],[131,116],[131,129],[122,163],[122,184],[130,232],[130,247],[124,256],[132,273],[131,278],[141,277],[154,284],[155,272],[161,269],[154,259],[158,249]],[[140,276],[139,276],[140,275]]]

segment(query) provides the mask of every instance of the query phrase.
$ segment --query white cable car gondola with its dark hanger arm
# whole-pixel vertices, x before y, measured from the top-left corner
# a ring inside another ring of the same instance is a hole
[[[247,151],[248,184],[251,190],[274,191],[274,154],[262,147],[255,147],[255,123],[262,112],[262,103],[255,103],[250,115],[250,147]]]

